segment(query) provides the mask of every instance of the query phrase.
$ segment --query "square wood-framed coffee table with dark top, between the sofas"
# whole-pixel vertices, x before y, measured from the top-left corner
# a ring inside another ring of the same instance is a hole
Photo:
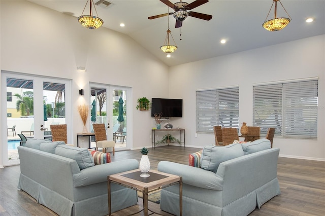
[[[165,173],[165,172],[159,172],[156,170],[150,170],[149,171],[150,176],[144,178],[144,177],[140,177],[141,173],[142,172],[140,171],[140,169],[134,169],[131,171],[121,172],[121,173],[107,176],[108,215],[111,215],[111,183],[116,183],[118,185],[142,192],[143,209],[141,209],[136,213],[144,211],[145,216],[148,215],[148,210],[153,212],[152,210],[148,209],[148,193],[175,184],[179,184],[179,213],[180,215],[182,215],[182,177],[178,175]]]

